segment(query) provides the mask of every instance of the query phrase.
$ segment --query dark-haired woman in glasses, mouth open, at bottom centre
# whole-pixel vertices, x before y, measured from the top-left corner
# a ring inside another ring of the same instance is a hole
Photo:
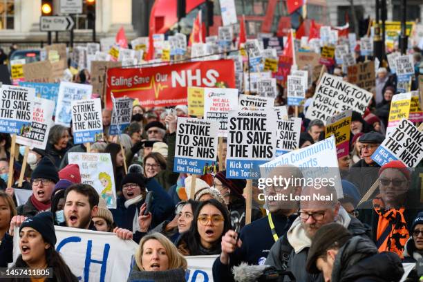
[[[191,227],[175,245],[185,256],[220,254],[220,241],[229,228],[227,209],[217,200],[206,200],[197,207]]]

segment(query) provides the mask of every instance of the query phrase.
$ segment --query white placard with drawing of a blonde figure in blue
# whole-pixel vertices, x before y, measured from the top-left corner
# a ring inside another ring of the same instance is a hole
[[[109,209],[116,208],[116,184],[110,153],[68,153],[70,164],[77,164],[81,181],[95,188]]]

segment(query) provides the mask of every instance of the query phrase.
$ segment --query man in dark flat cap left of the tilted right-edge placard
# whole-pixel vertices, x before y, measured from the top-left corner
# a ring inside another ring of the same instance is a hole
[[[384,142],[384,139],[384,135],[376,131],[370,131],[361,135],[358,139],[361,144],[359,147],[361,160],[351,167],[347,180],[357,186],[361,196],[364,196],[377,180],[377,171],[379,171],[380,166],[372,160],[371,156],[375,153],[377,147]]]

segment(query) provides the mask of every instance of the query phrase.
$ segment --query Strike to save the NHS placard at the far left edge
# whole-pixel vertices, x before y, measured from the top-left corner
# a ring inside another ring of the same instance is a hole
[[[0,132],[23,134],[29,131],[35,89],[3,84],[0,93]]]

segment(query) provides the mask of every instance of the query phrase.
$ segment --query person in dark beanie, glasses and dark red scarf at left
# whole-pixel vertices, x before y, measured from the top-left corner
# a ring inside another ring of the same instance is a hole
[[[59,174],[53,162],[47,157],[42,158],[32,171],[32,195],[24,205],[17,207],[17,214],[35,216],[39,212],[49,211],[51,195],[58,181]]]

